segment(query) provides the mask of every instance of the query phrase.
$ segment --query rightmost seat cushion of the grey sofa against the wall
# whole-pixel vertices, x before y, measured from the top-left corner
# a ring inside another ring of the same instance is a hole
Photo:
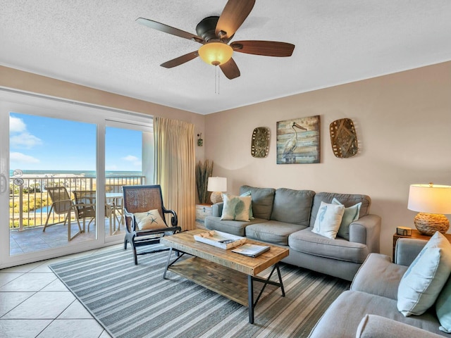
[[[290,249],[310,255],[353,263],[363,263],[369,253],[365,244],[349,242],[340,237],[323,237],[311,232],[311,227],[290,234],[288,245]]]

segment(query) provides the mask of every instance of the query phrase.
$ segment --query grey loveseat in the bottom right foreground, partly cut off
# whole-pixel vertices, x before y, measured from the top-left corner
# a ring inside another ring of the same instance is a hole
[[[439,327],[443,324],[448,330],[451,328],[451,280],[448,279],[444,287],[431,286],[432,291],[438,294],[439,298],[435,303],[432,300],[434,305],[430,306],[425,313],[404,316],[398,307],[399,289],[404,290],[405,287],[400,283],[408,270],[407,275],[414,274],[412,273],[414,268],[412,266],[409,268],[409,265],[415,265],[412,262],[415,262],[420,252],[423,261],[417,261],[416,267],[423,268],[423,271],[419,275],[430,283],[431,278],[424,273],[424,270],[430,273],[436,273],[438,270],[435,265],[431,268],[424,267],[424,259],[428,255],[428,252],[423,250],[426,243],[421,239],[398,239],[395,248],[396,263],[392,263],[389,256],[371,253],[355,275],[350,290],[343,292],[333,301],[309,338],[450,337],[449,333],[439,330]],[[449,257],[447,259],[449,261]],[[449,275],[449,270],[447,273]],[[444,277],[446,280],[446,275]],[[426,292],[426,287],[417,287],[412,281],[407,287],[411,287],[416,292]],[[418,306],[422,301],[412,297],[412,294],[409,294],[408,299],[414,306]],[[438,304],[440,304],[440,310],[438,310]],[[402,306],[404,305],[401,305],[401,308]],[[440,321],[437,315],[439,311]]]

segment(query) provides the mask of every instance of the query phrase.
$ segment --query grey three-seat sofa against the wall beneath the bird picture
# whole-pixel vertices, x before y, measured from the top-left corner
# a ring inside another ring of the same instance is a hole
[[[214,204],[213,215],[205,218],[206,229],[287,246],[290,255],[283,262],[350,281],[366,256],[379,252],[381,218],[369,213],[369,196],[247,185],[240,187],[240,194],[251,196],[249,220],[221,220],[224,205]],[[334,239],[312,231],[321,202],[333,201],[345,207],[345,215],[358,209],[352,218],[358,219],[343,231],[340,225]]]

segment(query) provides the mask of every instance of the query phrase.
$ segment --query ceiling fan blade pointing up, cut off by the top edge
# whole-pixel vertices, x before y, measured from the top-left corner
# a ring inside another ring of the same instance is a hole
[[[230,39],[254,8],[255,0],[228,0],[216,24],[215,34]]]

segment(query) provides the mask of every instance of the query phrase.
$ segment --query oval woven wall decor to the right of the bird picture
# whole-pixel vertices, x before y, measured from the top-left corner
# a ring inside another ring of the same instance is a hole
[[[357,154],[357,134],[350,118],[340,118],[330,123],[330,143],[333,154],[338,158],[348,158]]]

